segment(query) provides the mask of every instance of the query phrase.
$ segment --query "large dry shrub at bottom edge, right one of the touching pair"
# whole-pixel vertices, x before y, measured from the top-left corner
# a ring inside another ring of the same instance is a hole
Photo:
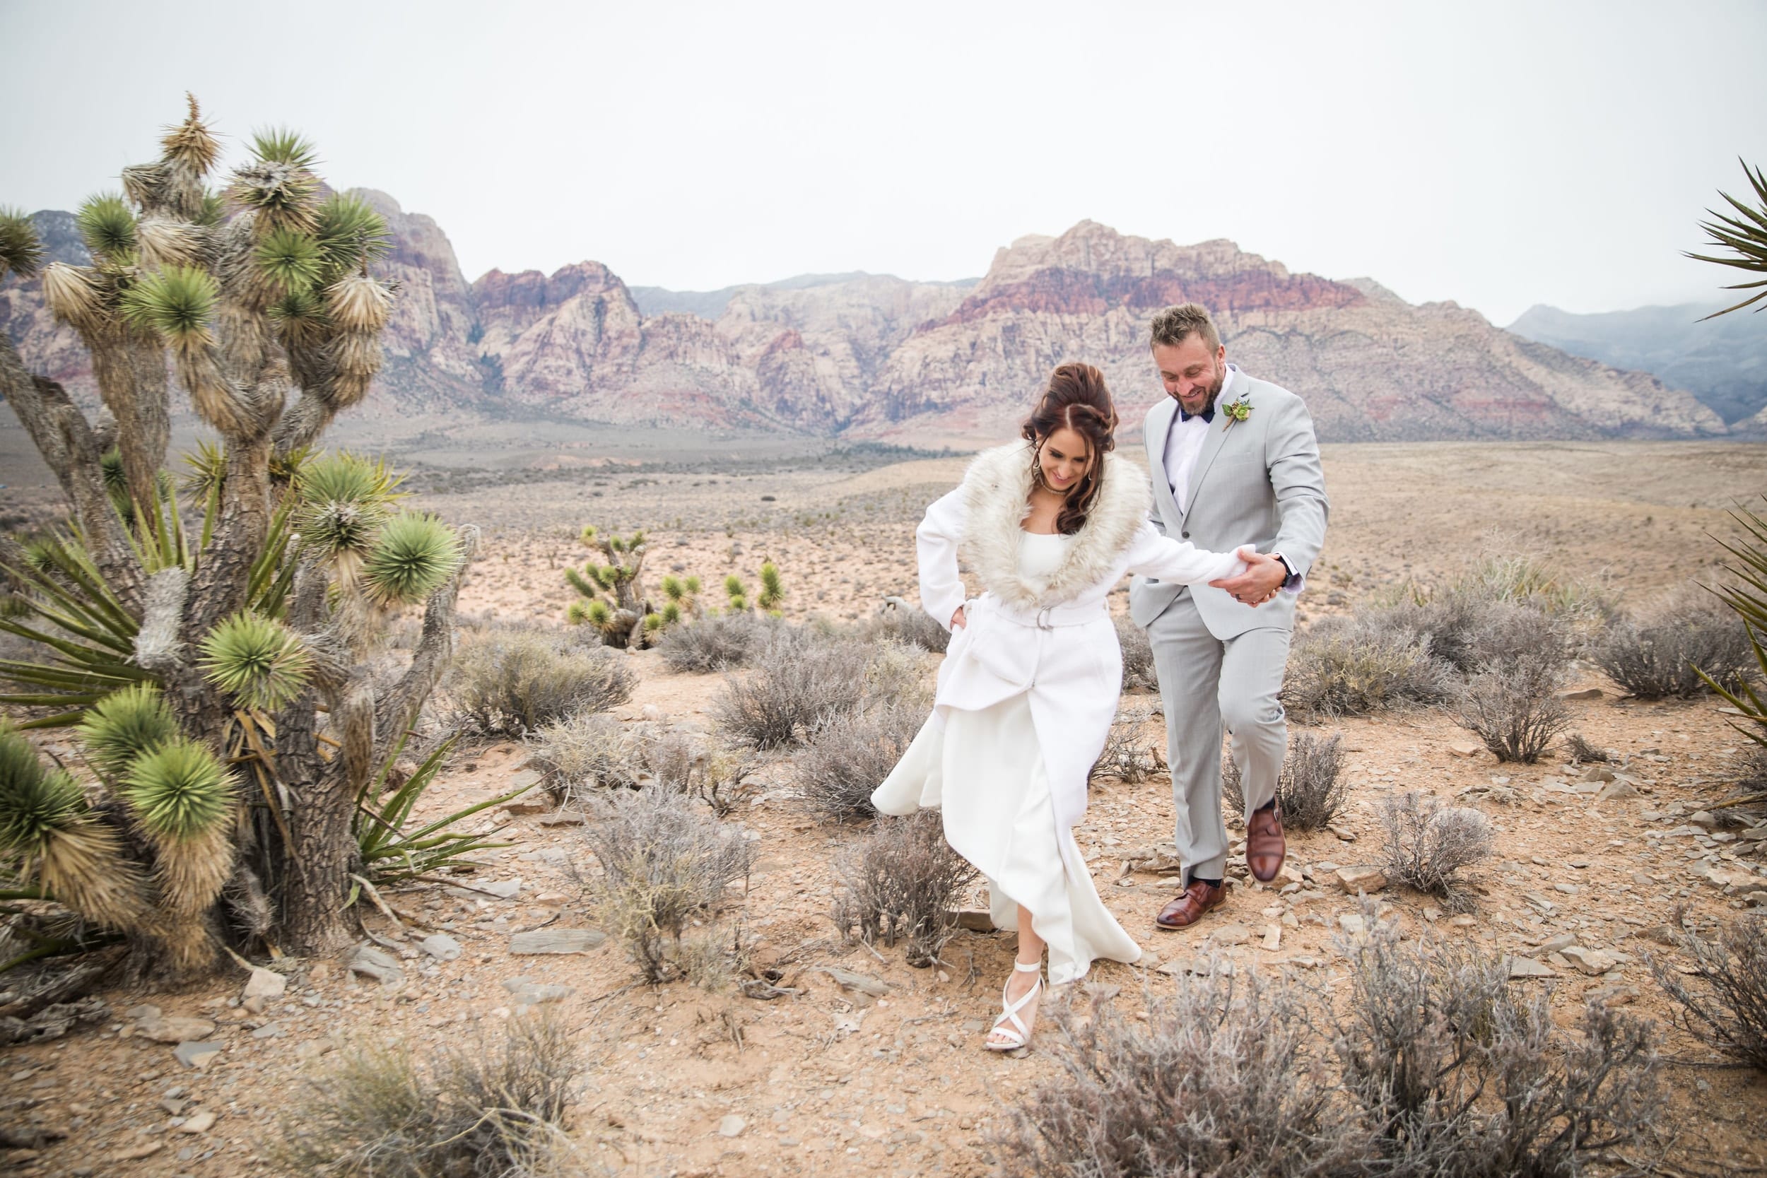
[[[1341,948],[1350,1001],[1332,1042],[1371,1134],[1361,1173],[1557,1178],[1650,1132],[1661,1093],[1649,1021],[1590,1001],[1566,1035],[1500,955],[1407,945],[1396,925]]]

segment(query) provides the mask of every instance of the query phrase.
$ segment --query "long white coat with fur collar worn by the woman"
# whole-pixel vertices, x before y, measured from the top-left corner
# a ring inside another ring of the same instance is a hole
[[[921,738],[938,738],[949,708],[981,710],[1028,694],[1055,819],[1064,828],[1087,809],[1087,777],[1097,761],[1122,694],[1122,648],[1110,592],[1129,572],[1207,583],[1244,570],[1237,553],[1210,553],[1161,535],[1149,523],[1147,475],[1104,456],[1099,500],[1067,555],[1046,581],[1018,572],[1020,537],[1030,514],[1028,442],[984,450],[963,484],[926,509],[915,530],[921,606],[947,631],[959,606],[967,623],[951,638],[938,669],[933,714]],[[965,600],[958,558],[984,592]],[[917,738],[919,740],[919,738]],[[901,782],[873,793],[884,812],[912,812]]]

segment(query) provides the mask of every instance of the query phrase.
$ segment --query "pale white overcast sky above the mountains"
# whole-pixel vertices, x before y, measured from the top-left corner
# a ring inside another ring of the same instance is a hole
[[[115,187],[189,88],[468,279],[956,279],[1090,217],[1507,323],[1721,297],[1680,251],[1767,164],[1762,0],[0,0],[0,203]]]

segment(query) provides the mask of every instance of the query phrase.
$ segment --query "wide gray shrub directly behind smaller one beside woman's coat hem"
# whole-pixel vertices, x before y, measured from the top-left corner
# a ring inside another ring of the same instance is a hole
[[[924,706],[919,657],[899,643],[864,645],[809,629],[770,634],[755,669],[726,678],[712,717],[735,740],[777,749],[815,738],[859,706]]]

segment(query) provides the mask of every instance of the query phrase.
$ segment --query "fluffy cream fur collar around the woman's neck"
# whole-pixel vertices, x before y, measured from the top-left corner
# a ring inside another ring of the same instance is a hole
[[[1005,604],[1018,609],[1058,606],[1117,570],[1117,560],[1147,519],[1150,503],[1147,477],[1115,454],[1106,454],[1104,486],[1085,526],[1067,546],[1067,556],[1048,581],[1023,578],[1018,572],[1018,544],[1030,514],[1030,443],[1014,442],[982,450],[963,475],[968,521],[961,555],[982,588]]]

